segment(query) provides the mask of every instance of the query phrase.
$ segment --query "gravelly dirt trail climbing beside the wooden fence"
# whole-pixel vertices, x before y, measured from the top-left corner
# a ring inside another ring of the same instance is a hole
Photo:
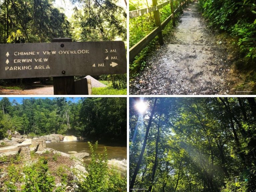
[[[149,67],[130,82],[130,94],[229,94],[228,54],[206,29],[198,5],[187,6],[179,22],[169,42],[148,58]]]

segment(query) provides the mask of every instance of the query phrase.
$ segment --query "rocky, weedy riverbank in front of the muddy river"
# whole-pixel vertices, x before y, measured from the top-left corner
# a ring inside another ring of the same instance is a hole
[[[48,191],[79,191],[85,178],[91,174],[91,171],[87,170],[92,170],[91,166],[97,165],[96,161],[93,162],[93,157],[91,158],[93,165],[84,164],[83,157],[89,156],[89,154],[82,153],[82,156],[77,156],[79,153],[70,155],[45,148],[44,151],[31,151],[31,160],[29,161],[23,161],[22,157],[17,154],[8,156],[8,158],[2,156],[0,159],[0,189],[3,192],[11,189],[23,191],[23,188],[28,185],[34,188],[37,184],[32,180],[41,177],[39,179],[44,180],[45,183],[51,181],[47,183],[49,189],[51,188]],[[100,158],[97,161],[99,161],[98,164],[102,164]],[[110,175],[126,181],[126,160],[110,160],[106,162],[106,165],[108,168],[105,167],[105,169]]]

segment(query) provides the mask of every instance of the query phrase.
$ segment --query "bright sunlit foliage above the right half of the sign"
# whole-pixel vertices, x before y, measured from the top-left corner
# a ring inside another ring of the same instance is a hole
[[[83,41],[109,41],[117,37],[126,40],[126,11],[116,1],[73,0],[82,10],[75,7],[74,25],[79,25]]]

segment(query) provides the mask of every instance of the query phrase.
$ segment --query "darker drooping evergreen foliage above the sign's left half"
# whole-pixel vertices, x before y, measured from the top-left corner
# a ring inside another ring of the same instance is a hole
[[[1,2],[0,20],[2,43],[50,42],[70,36],[65,14],[48,0]]]

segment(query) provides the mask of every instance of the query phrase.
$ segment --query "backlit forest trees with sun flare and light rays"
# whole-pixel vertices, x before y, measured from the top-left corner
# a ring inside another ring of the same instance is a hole
[[[255,191],[255,98],[130,98],[129,109],[130,192]]]

